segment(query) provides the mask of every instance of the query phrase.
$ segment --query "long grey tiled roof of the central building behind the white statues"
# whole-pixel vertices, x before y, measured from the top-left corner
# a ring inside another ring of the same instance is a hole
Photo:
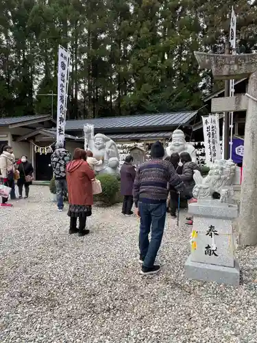
[[[85,123],[93,124],[95,129],[119,128],[161,128],[167,126],[186,125],[197,111],[158,113],[156,115],[133,115],[125,117],[103,117],[96,119],[79,119],[66,121],[66,131],[83,130]]]

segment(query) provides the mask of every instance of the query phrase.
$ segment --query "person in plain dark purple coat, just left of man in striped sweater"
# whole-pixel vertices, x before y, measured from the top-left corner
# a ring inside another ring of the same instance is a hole
[[[122,211],[123,215],[132,215],[133,206],[133,185],[136,177],[136,170],[132,165],[134,158],[128,155],[121,166],[121,196],[123,196]]]

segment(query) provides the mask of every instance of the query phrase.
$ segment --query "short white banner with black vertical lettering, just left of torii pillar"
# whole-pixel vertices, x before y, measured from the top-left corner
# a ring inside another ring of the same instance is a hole
[[[206,165],[221,159],[221,145],[219,142],[219,115],[201,117],[204,129],[204,147]]]

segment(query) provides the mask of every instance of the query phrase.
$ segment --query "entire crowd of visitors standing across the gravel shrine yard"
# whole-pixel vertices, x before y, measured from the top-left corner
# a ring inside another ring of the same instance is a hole
[[[71,161],[71,154],[62,143],[56,143],[56,150],[51,155],[51,165],[56,183],[58,211],[63,211],[64,198],[68,193],[70,217],[69,233],[84,236],[86,218],[92,214],[94,168],[102,161],[94,158],[92,152],[76,148]],[[164,147],[156,142],[151,146],[151,159],[139,167],[134,167],[133,157],[127,156],[121,167],[121,194],[123,198],[123,215],[135,213],[140,217],[139,261],[142,263],[142,274],[154,274],[160,270],[155,265],[156,255],[160,248],[167,213],[167,198],[171,216],[175,218],[178,207],[178,196],[188,202],[194,202],[192,191],[195,185],[193,173],[198,169],[191,161],[190,154],[184,152],[173,154],[164,159]],[[32,164],[27,156],[15,161],[12,147],[3,147],[0,155],[0,169],[3,185],[12,189],[11,198],[15,198],[14,180],[17,179],[19,197],[22,197],[23,186],[25,198],[29,196],[29,185],[33,178]],[[2,206],[8,206],[8,198],[3,198]],[[79,226],[77,228],[77,220]],[[191,220],[191,218],[188,218]],[[149,233],[151,240],[149,241]]]

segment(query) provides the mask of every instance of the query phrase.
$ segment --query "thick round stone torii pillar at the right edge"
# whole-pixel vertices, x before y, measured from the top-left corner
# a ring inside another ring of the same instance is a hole
[[[248,93],[257,98],[257,72],[249,78]],[[250,97],[244,146],[239,244],[255,246],[257,244],[257,102]]]

